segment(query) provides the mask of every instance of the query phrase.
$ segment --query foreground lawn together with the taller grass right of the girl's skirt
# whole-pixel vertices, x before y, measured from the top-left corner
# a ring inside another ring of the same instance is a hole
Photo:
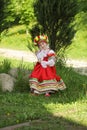
[[[72,68],[58,64],[56,66],[57,73],[64,79],[67,89],[51,95],[50,98],[44,95],[33,96],[29,89],[22,92],[16,89],[12,93],[0,92],[1,128],[29,122],[29,126],[17,129],[87,129],[87,76],[79,75]]]

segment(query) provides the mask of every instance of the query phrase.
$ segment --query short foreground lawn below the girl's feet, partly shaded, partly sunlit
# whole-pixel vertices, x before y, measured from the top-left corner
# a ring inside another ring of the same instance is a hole
[[[67,100],[66,92],[50,98],[29,93],[0,94],[0,127],[29,121],[28,128],[36,129],[87,128],[86,100],[84,97],[71,102]]]

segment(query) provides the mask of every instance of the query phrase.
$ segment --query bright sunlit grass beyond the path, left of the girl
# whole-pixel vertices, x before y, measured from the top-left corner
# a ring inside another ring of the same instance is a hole
[[[27,48],[27,35],[25,26],[13,26],[8,31],[3,31],[1,34],[1,48],[9,48],[16,50],[26,50]]]

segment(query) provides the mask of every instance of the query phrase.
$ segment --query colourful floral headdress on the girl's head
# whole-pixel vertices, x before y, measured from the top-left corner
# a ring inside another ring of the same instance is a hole
[[[41,42],[47,43],[47,42],[48,42],[48,36],[43,34],[43,35],[36,36],[36,37],[34,38],[34,44],[35,44],[35,45],[38,45],[38,44],[40,44]]]

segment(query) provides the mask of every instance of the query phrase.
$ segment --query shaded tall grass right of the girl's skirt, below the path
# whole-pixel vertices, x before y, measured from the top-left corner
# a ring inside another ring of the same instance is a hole
[[[81,75],[74,71],[72,67],[56,64],[57,74],[61,76],[66,84],[64,94],[67,101],[75,101],[87,96],[87,76]]]

